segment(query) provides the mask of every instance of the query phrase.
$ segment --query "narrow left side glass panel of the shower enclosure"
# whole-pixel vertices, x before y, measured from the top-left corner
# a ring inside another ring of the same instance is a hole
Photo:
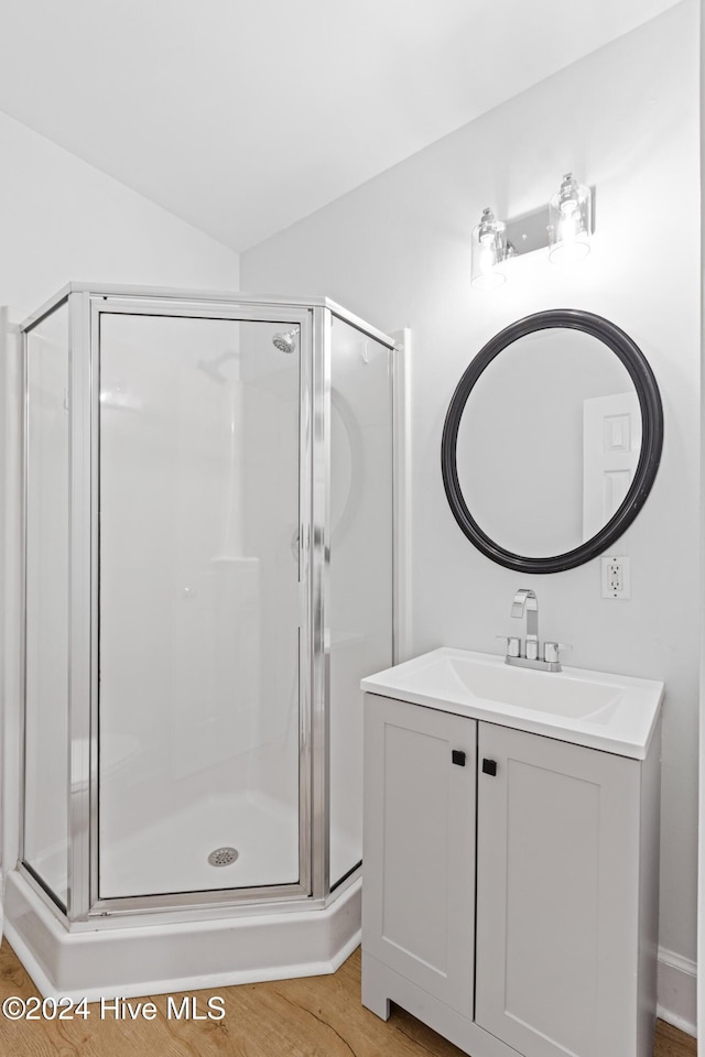
[[[62,904],[68,859],[68,307],[26,345],[24,860]]]

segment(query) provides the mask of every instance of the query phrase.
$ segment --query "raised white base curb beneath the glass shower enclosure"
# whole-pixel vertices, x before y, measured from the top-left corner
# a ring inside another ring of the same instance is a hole
[[[12,871],[4,931],[45,998],[165,994],[335,972],[360,941],[360,891],[357,876],[319,908],[250,906],[229,917],[68,931]]]

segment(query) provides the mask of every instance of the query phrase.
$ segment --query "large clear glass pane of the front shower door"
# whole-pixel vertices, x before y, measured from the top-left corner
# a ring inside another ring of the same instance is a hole
[[[300,324],[100,313],[98,900],[300,881]]]

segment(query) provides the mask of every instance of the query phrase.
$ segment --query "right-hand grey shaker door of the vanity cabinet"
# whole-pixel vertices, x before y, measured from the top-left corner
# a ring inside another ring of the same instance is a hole
[[[639,762],[480,722],[477,796],[476,1022],[524,1057],[636,1054]]]

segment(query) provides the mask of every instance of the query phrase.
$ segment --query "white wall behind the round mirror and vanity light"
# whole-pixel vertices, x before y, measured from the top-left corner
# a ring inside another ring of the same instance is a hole
[[[698,36],[698,4],[685,0],[241,261],[245,288],[323,293],[383,329],[412,327],[414,652],[441,643],[497,652],[495,635],[517,632],[509,618],[514,589],[531,587],[544,636],[574,644],[571,663],[665,680],[660,941],[666,960],[673,952],[690,970],[699,644]],[[473,291],[469,232],[481,208],[491,205],[501,217],[536,208],[568,170],[597,188],[589,258],[562,272],[532,254],[513,262],[498,292]],[[585,308],[622,327],[661,389],[661,468],[616,547],[631,557],[630,601],[601,599],[598,562],[544,577],[494,565],[460,534],[444,497],[441,433],[464,368],[503,326],[554,307]]]

